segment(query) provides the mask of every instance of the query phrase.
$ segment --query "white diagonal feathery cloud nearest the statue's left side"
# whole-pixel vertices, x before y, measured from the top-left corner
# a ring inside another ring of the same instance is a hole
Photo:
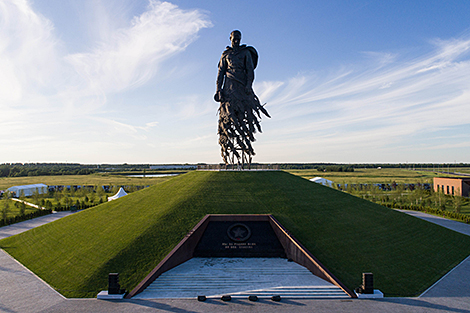
[[[66,57],[91,91],[119,92],[147,82],[168,57],[183,51],[202,28],[211,26],[199,11],[150,1],[148,11],[126,28],[115,29],[91,52]]]

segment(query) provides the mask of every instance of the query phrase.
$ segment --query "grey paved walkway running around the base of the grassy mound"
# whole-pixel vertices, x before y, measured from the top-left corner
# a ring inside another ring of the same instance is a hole
[[[444,227],[466,233],[469,225],[406,212]],[[60,213],[58,213],[60,214]],[[55,214],[54,214],[55,215]],[[44,217],[53,217],[48,215]],[[41,217],[41,218],[44,218]],[[58,216],[57,216],[58,217]],[[41,219],[38,218],[38,219]],[[29,222],[29,221],[28,221]],[[449,223],[450,222],[450,223]],[[25,222],[23,222],[25,223]],[[44,224],[44,223],[41,223]],[[462,226],[463,225],[463,226]],[[12,225],[14,226],[14,225]],[[39,225],[38,225],[39,226]],[[31,227],[31,226],[29,226]],[[0,228],[4,232],[4,227]],[[21,225],[18,232],[27,230]],[[32,227],[31,227],[32,228]],[[30,229],[30,228],[28,228]],[[5,233],[4,233],[5,234]],[[468,234],[468,233],[466,233]],[[6,234],[4,236],[7,236]],[[383,298],[376,300],[288,300],[251,302],[234,299],[223,302],[196,300],[125,300],[64,299],[42,280],[0,250],[0,312],[458,312],[470,313],[470,263],[464,261],[418,298]]]

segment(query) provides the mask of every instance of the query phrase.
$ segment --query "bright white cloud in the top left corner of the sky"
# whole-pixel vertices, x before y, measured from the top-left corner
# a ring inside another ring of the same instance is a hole
[[[53,30],[26,0],[0,3],[0,108],[56,85],[60,45]]]

